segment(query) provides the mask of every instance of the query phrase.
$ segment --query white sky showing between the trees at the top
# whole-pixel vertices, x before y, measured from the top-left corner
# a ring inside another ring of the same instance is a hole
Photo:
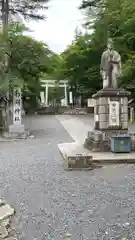
[[[50,0],[46,21],[31,22],[31,35],[46,42],[57,53],[62,52],[74,37],[75,28],[81,27],[83,15],[78,9],[82,0]]]

